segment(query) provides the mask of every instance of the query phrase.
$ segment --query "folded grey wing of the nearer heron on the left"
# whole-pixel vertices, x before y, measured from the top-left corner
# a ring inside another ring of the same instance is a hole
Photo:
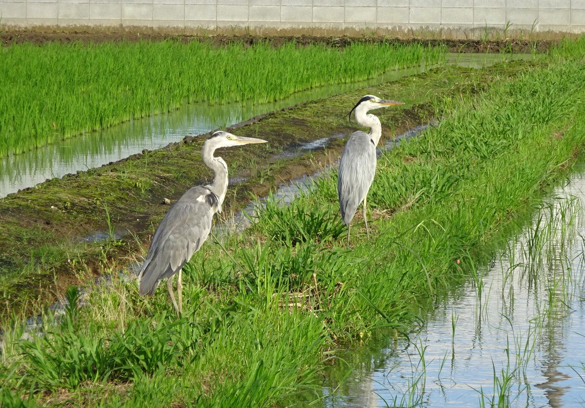
[[[211,231],[219,199],[208,188],[189,189],[168,210],[154,233],[139,274],[140,295],[152,295],[160,279],[176,274],[199,250]]]

